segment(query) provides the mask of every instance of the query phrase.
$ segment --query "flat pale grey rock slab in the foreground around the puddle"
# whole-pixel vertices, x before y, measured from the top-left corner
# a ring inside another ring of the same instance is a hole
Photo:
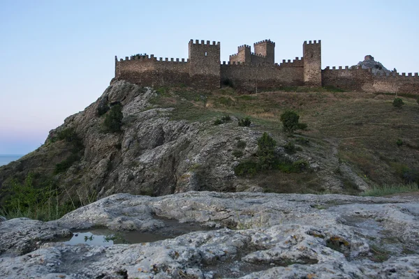
[[[203,230],[153,243],[108,247],[45,239],[31,252],[7,246],[10,238],[1,237],[0,277],[418,278],[418,216],[419,202],[403,198],[118,194],[43,225],[62,232],[108,227],[161,233],[170,231],[168,218],[199,223]],[[3,221],[0,234],[7,230],[11,237],[31,222],[38,221]],[[16,240],[14,246],[27,242]]]

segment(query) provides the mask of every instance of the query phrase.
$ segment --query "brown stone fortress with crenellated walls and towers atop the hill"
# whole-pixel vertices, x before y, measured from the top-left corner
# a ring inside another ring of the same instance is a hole
[[[157,59],[138,54],[115,56],[115,78],[142,86],[186,85],[198,89],[219,89],[230,85],[242,91],[278,89],[282,86],[335,86],[350,91],[419,93],[418,73],[374,74],[358,67],[321,68],[321,40],[305,41],[301,58],[275,63],[275,43],[262,40],[237,48],[230,61],[220,62],[220,43],[190,40],[188,59]],[[365,59],[371,59],[366,56]],[[111,82],[111,83],[112,83]]]

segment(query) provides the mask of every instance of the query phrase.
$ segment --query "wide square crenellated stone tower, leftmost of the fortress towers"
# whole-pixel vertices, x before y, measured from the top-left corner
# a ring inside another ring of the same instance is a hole
[[[206,88],[220,86],[220,42],[189,41],[189,75],[193,84]]]

